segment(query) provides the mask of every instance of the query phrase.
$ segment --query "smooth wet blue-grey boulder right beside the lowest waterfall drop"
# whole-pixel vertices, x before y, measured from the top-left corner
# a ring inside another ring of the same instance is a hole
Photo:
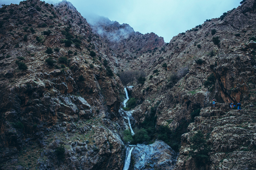
[[[153,144],[137,144],[132,150],[132,169],[171,170],[175,167],[177,153],[161,140]]]

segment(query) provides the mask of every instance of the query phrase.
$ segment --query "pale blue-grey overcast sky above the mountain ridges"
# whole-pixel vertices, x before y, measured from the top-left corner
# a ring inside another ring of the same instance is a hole
[[[170,42],[173,36],[218,18],[237,8],[242,0],[69,0],[87,18],[95,14],[129,24],[142,34],[155,33]],[[0,0],[0,4],[19,4],[20,0]],[[59,0],[45,0],[57,3]]]

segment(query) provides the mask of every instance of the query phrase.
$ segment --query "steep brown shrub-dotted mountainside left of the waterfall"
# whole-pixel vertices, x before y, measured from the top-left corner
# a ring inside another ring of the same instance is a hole
[[[66,1],[0,10],[0,169],[122,169],[114,58]]]

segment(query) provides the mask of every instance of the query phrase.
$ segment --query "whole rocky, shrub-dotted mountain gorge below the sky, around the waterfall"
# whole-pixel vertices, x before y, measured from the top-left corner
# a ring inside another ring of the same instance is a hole
[[[165,43],[67,1],[3,5],[0,169],[122,170],[130,150],[134,170],[256,169],[255,15]]]

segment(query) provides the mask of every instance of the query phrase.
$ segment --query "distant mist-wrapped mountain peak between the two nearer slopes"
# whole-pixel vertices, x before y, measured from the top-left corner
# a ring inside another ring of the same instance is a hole
[[[148,51],[161,48],[166,43],[162,37],[154,33],[141,34],[135,32],[128,24],[120,25],[105,17],[89,20],[94,34],[101,37],[111,48],[116,57],[116,72],[129,70],[129,63]],[[128,63],[128,64],[127,64]]]

